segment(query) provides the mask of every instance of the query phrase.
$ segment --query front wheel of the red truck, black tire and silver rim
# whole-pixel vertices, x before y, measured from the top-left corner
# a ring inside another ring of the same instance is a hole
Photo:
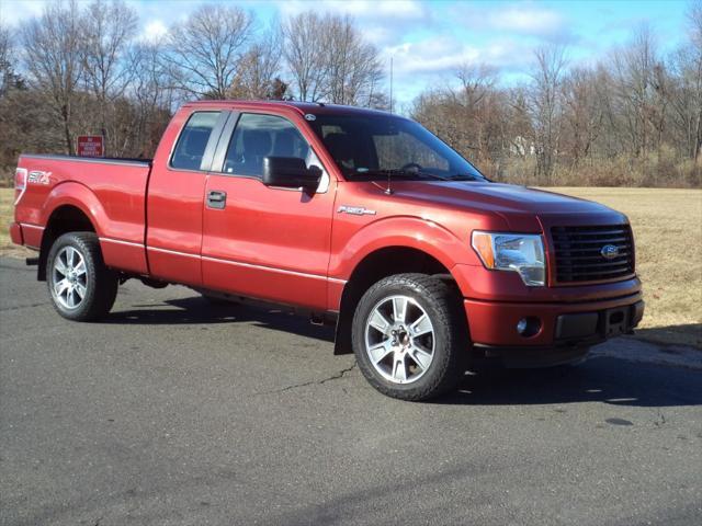
[[[426,400],[455,389],[468,352],[465,315],[451,288],[423,274],[373,285],[353,317],[359,367],[378,391]]]

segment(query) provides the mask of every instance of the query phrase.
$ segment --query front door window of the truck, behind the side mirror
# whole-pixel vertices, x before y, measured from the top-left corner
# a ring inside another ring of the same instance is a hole
[[[296,157],[307,167],[319,165],[309,145],[287,119],[273,115],[244,113],[234,130],[223,171],[261,178],[267,157]]]

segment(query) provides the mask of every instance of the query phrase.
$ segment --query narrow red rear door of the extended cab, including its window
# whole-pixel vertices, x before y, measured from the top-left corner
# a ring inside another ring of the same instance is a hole
[[[194,111],[172,123],[182,129],[168,160],[154,163],[147,194],[146,244],[149,271],[155,277],[202,285],[205,180],[229,115]]]

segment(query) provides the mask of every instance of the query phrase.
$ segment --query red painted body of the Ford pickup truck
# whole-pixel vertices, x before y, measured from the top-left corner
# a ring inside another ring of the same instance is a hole
[[[307,194],[268,187],[254,178],[171,168],[173,145],[196,111],[286,118],[321,161],[327,191]],[[27,184],[15,208],[12,240],[39,247],[52,214],[72,206],[90,219],[104,260],[114,268],[316,311],[339,310],[344,283],[369,254],[388,247],[412,248],[449,270],[465,298],[473,340],[490,345],[550,344],[561,313],[641,299],[636,277],[555,286],[548,273],[547,286],[526,287],[516,273],[486,270],[471,248],[476,229],[541,233],[551,260],[551,226],[625,224],[622,214],[587,201],[487,182],[396,181],[387,195],[383,184],[344,181],[304,118],[306,113],[332,112],[365,111],[281,102],[192,103],[173,117],[151,167],[22,156],[21,168],[48,176],[47,184]],[[227,194],[224,209],[206,205],[211,191]],[[341,205],[375,214],[340,214]],[[513,330],[525,316],[544,323],[531,339]]]

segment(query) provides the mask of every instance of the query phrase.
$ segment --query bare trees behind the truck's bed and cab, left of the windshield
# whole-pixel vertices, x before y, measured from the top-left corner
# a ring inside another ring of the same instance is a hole
[[[306,12],[274,27],[204,4],[160,38],[139,38],[122,0],[56,1],[0,26],[0,168],[22,151],[75,153],[105,136],[112,157],[149,157],[192,99],[299,99],[384,105],[378,50],[348,16]]]

